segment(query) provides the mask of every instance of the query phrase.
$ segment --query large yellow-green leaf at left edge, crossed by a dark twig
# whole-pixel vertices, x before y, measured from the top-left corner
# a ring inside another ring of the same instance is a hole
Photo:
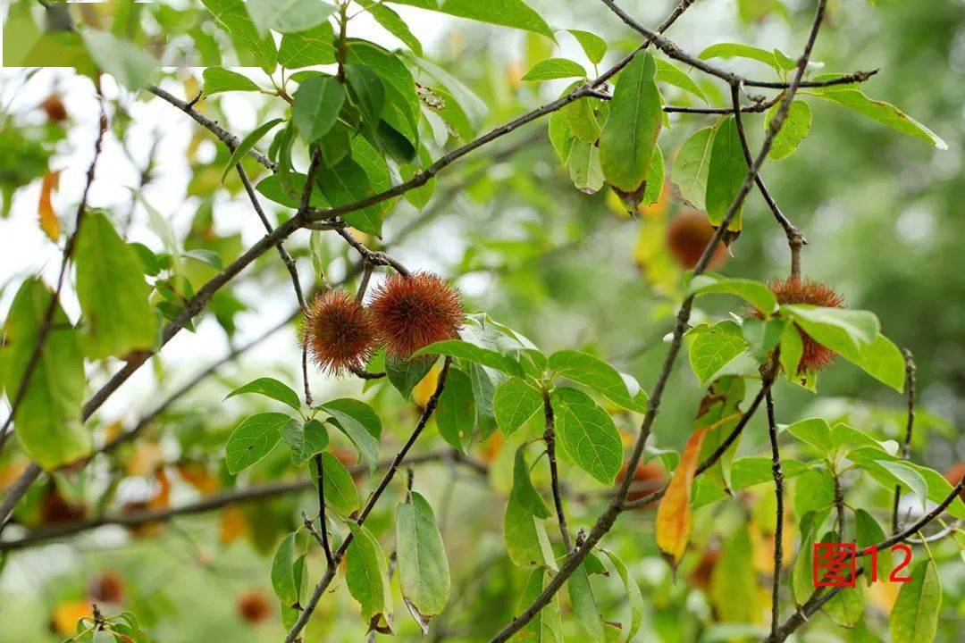
[[[40,278],[20,284],[3,328],[0,376],[13,399],[33,358],[41,324],[52,293]],[[52,327],[14,416],[14,430],[23,448],[45,470],[57,469],[91,453],[93,441],[80,419],[86,377],[84,359],[60,305]]]

